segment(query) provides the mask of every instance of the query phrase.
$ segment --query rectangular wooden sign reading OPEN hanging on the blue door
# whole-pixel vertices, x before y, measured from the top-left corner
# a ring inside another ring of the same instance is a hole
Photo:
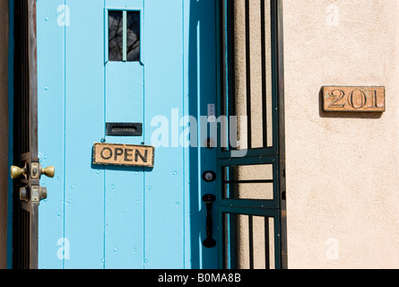
[[[93,164],[153,168],[155,148],[149,145],[94,143]]]

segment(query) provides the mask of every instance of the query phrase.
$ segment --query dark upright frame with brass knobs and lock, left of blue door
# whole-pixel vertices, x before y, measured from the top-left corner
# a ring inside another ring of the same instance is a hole
[[[25,175],[15,178],[13,196],[13,268],[38,268],[38,82],[36,0],[10,1],[13,13],[13,107],[10,149],[13,164]],[[10,97],[11,98],[11,97]],[[10,258],[9,258],[10,260]],[[9,264],[11,265],[11,264]]]

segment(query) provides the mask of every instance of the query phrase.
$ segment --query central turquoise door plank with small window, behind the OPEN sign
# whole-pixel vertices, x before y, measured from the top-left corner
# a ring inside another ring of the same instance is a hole
[[[143,16],[143,1],[105,1],[106,122],[143,123],[143,57],[141,62],[112,62],[108,61],[107,57],[108,9],[122,10],[121,8],[126,9],[126,7],[139,11],[141,16]],[[143,25],[141,26],[143,27]],[[143,32],[141,32],[141,35],[143,35]],[[141,39],[141,42],[143,42],[143,39]],[[107,136],[105,138],[107,143],[140,144],[143,142],[143,136],[118,138]],[[143,169],[114,168],[106,170],[104,205],[105,267],[143,268],[143,179]]]

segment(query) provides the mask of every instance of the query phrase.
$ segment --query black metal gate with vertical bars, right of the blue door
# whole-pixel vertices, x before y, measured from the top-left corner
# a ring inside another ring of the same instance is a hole
[[[287,268],[282,0],[219,4],[220,267]]]

